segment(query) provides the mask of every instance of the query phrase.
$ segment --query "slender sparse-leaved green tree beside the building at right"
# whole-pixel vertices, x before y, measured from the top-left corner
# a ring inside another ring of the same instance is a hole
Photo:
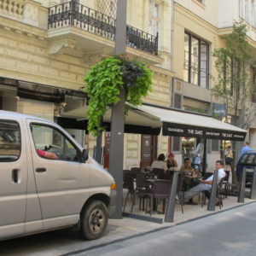
[[[226,106],[225,121],[228,122],[231,116],[232,125],[247,130],[256,117],[252,101],[256,88],[253,74],[256,61],[250,53],[246,24],[235,21],[232,32],[224,37],[224,43],[225,48],[214,49],[212,53],[218,71],[212,93]],[[232,174],[234,183],[234,168]]]

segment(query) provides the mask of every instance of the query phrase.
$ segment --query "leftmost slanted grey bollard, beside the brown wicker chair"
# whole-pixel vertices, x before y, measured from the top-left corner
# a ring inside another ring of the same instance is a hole
[[[174,209],[175,209],[175,197],[177,193],[177,177],[178,172],[173,172],[172,186],[169,191],[169,200],[166,207],[165,222],[173,222]]]

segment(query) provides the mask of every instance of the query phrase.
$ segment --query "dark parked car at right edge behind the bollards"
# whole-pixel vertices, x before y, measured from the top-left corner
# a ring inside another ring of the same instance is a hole
[[[252,183],[253,169],[256,167],[256,151],[249,151],[246,154],[242,154],[236,164],[236,176],[238,180],[241,179],[242,169],[246,167],[246,183]]]

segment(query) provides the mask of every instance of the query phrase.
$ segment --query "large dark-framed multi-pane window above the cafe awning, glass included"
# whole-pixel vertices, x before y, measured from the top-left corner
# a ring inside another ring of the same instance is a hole
[[[183,79],[191,84],[208,88],[209,44],[185,33]]]

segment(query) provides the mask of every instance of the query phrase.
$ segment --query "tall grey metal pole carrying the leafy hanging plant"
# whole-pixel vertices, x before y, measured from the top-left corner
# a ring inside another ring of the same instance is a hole
[[[117,2],[115,55],[125,52],[126,45],[126,0]],[[123,159],[125,125],[125,90],[120,90],[120,101],[112,107],[111,137],[109,148],[109,172],[117,184],[115,212],[112,218],[122,218],[123,203]]]

